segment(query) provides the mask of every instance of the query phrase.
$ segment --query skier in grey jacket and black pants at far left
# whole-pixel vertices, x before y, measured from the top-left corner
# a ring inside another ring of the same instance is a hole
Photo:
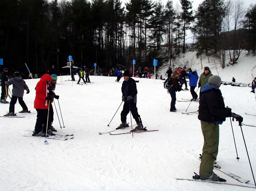
[[[24,90],[26,90],[27,94],[28,94],[29,88],[28,88],[26,82],[20,76],[19,72],[14,72],[13,75],[14,75],[14,77],[12,79],[5,82],[5,84],[7,86],[12,84],[13,89],[12,89],[12,98],[10,101],[9,113],[4,116],[15,116],[14,108],[15,108],[15,104],[16,104],[17,100],[19,100],[19,104],[22,107],[22,111],[20,111],[19,113],[30,113],[30,111],[28,111],[28,107],[26,106],[25,102],[23,101]]]

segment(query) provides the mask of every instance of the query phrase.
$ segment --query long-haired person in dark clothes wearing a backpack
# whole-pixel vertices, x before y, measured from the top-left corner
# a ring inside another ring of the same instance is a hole
[[[181,86],[179,84],[179,72],[178,71],[174,71],[172,74],[172,77],[169,78],[169,80],[171,80],[172,82],[172,86],[168,89],[168,92],[171,95],[172,101],[171,101],[171,108],[170,108],[170,112],[176,112],[176,92],[177,91],[181,91]],[[167,82],[169,83],[169,81]]]

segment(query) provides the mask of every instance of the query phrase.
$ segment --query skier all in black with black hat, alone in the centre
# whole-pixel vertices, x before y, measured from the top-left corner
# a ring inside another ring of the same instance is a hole
[[[137,86],[134,79],[130,77],[130,72],[128,70],[123,73],[124,81],[122,83],[122,101],[124,102],[123,111],[121,112],[121,124],[116,129],[121,129],[128,127],[129,125],[126,122],[126,117],[131,111],[133,118],[135,119],[137,126],[133,131],[144,131],[147,130],[143,128],[143,124],[138,114],[137,109]]]

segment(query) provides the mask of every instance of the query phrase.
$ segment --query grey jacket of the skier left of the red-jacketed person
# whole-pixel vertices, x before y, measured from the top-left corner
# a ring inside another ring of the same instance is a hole
[[[16,97],[23,97],[24,95],[24,90],[29,91],[29,88],[26,84],[26,82],[22,79],[21,76],[16,76],[9,81],[5,82],[5,85],[13,85],[12,88],[12,95]]]

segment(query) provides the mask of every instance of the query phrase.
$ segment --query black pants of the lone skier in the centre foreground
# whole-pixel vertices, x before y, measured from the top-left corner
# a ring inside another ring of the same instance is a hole
[[[126,117],[130,112],[130,108],[131,108],[132,117],[133,119],[135,119],[136,123],[138,124],[139,122],[141,122],[141,119],[140,119],[140,115],[138,114],[136,103],[124,102],[123,111],[121,112],[121,121],[122,123],[126,122]]]

